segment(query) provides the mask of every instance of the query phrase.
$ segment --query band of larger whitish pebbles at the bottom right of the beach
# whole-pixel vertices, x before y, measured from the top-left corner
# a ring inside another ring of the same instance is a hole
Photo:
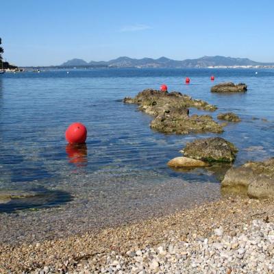
[[[66,273],[68,269],[45,266],[35,274]],[[190,235],[184,240],[172,236],[166,242],[125,253],[87,256],[68,273],[273,273],[274,223],[253,220],[229,232],[214,227],[208,238]]]

